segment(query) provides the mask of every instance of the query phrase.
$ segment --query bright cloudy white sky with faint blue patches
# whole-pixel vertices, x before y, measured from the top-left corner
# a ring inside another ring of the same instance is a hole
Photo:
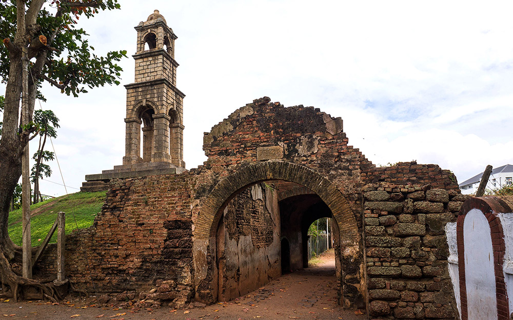
[[[459,182],[513,164],[513,3],[121,0],[81,20],[97,54],[135,53],[134,26],[159,9],[178,36],[187,168],[206,160],[203,132],[255,98],[315,106],[344,119],[374,164],[417,160]],[[122,84],[133,82],[131,56]],[[2,91],[5,87],[1,88]],[[61,119],[54,141],[68,193],[122,164],[123,86],[80,98],[46,88]],[[31,153],[36,145],[31,145]],[[56,164],[43,194],[65,189]]]

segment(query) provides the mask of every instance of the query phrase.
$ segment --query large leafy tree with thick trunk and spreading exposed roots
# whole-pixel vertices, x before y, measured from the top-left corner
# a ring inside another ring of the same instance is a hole
[[[46,4],[45,8],[43,6]],[[23,278],[10,264],[21,248],[9,238],[8,218],[13,191],[21,176],[22,153],[36,136],[33,121],[39,90],[48,82],[62,93],[78,96],[104,84],[119,84],[121,67],[116,65],[126,51],[93,53],[87,33],[77,28],[78,18],[91,18],[98,10],[118,9],[117,0],[0,0],[0,80],[6,82],[2,137],[0,138],[0,296],[19,297],[20,286],[43,290],[50,300],[60,298],[51,284]],[[28,88],[24,95],[28,124],[20,123],[23,65],[29,60]]]

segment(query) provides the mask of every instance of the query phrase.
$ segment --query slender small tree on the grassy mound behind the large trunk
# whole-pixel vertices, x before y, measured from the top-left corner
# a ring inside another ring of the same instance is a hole
[[[39,179],[50,177],[52,169],[43,161],[51,161],[55,158],[53,152],[45,151],[46,139],[56,138],[56,129],[60,126],[59,119],[51,110],[36,110],[34,112],[34,123],[39,127],[39,145],[32,159],[35,160],[32,167],[30,178],[34,184],[34,200],[37,203],[40,200]]]

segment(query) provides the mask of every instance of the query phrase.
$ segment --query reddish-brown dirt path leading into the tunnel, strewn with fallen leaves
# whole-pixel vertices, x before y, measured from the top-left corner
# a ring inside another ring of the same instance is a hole
[[[87,306],[85,301],[58,306],[42,302],[0,302],[0,319],[366,319],[366,315],[356,315],[354,310],[344,310],[337,304],[333,251],[324,254],[321,261],[316,266],[284,275],[236,300],[205,308],[171,310],[164,307],[150,312]]]

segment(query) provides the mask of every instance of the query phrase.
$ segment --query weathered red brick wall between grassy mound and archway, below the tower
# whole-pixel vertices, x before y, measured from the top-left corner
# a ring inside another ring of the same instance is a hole
[[[113,181],[94,225],[66,237],[67,277],[90,292],[143,291],[172,280],[174,293],[164,300],[190,300],[190,206],[187,174]],[[53,253],[45,255],[40,268],[48,274]]]

